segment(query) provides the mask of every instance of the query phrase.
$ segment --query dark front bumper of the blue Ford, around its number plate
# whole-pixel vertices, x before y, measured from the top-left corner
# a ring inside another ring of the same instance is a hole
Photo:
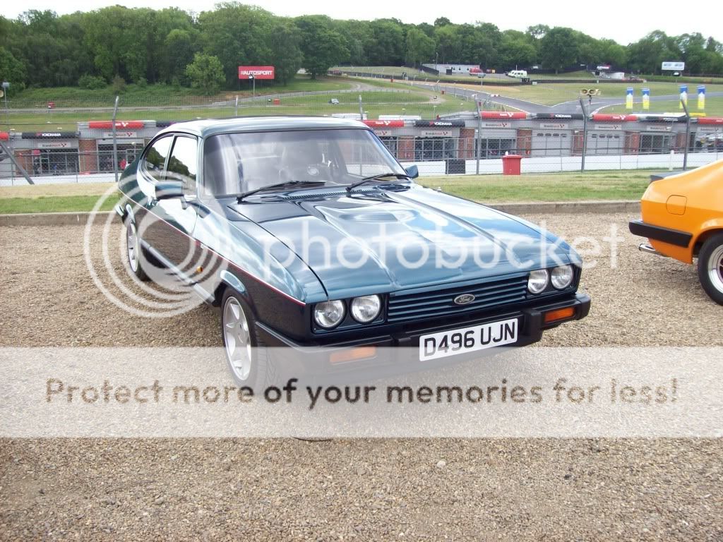
[[[573,309],[573,315],[571,317],[566,317],[555,322],[544,322],[545,314],[566,308]],[[288,374],[291,377],[341,374],[364,374],[364,376],[367,377],[382,377],[391,374],[432,369],[438,366],[469,360],[470,358],[480,358],[486,353],[495,353],[495,348],[490,348],[488,350],[477,350],[458,356],[422,362],[419,361],[418,355],[419,337],[422,337],[422,335],[517,318],[520,330],[518,340],[510,346],[526,346],[542,339],[542,332],[544,332],[544,330],[557,327],[564,322],[582,319],[587,316],[589,311],[590,296],[586,293],[576,293],[572,298],[551,301],[516,311],[499,311],[495,314],[485,314],[484,317],[466,319],[463,322],[445,323],[444,325],[436,324],[434,326],[424,326],[424,324],[421,324],[414,328],[409,327],[401,332],[394,332],[388,335],[363,337],[325,345],[296,342],[258,322],[256,327],[257,333],[263,343],[267,348],[272,349],[271,355],[274,357],[278,369],[280,369],[283,374]],[[359,358],[354,361],[332,361],[335,353],[360,347],[376,347],[377,353],[374,356]],[[380,352],[383,352],[383,354]]]

